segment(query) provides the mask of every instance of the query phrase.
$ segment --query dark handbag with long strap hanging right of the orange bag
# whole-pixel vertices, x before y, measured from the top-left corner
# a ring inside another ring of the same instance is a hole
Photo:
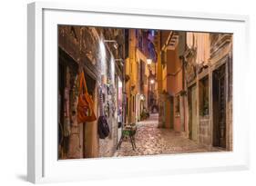
[[[108,121],[103,113],[103,95],[102,90],[99,90],[99,118],[97,120],[97,133],[100,139],[105,139],[109,134]]]

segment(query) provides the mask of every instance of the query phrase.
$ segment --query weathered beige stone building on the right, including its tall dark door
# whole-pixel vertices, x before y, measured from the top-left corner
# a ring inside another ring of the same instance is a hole
[[[231,150],[231,34],[187,33],[189,139]]]

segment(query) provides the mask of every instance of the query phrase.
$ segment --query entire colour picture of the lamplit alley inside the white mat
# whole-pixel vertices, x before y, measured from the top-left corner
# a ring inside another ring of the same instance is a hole
[[[58,25],[58,158],[232,151],[232,34]]]

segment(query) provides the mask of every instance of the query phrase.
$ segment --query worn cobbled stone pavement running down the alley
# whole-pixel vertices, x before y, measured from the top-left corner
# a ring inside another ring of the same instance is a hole
[[[179,133],[158,128],[158,116],[158,114],[150,114],[148,120],[137,123],[135,134],[137,148],[135,151],[132,150],[129,139],[126,139],[114,156],[210,152],[204,146],[181,136]]]

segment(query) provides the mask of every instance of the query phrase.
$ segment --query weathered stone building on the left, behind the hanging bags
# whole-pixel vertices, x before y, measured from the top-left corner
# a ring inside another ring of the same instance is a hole
[[[118,80],[124,82],[124,30],[60,25],[58,35],[59,158],[112,156],[118,142]],[[85,73],[97,117],[98,89],[103,90],[110,129],[107,139],[99,140],[97,121],[77,123],[79,68]]]

